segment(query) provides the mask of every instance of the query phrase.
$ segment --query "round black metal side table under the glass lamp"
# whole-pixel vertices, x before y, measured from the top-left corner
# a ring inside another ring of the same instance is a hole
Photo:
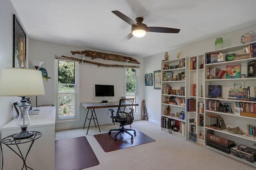
[[[34,135],[33,135],[32,137],[27,138],[27,139],[18,139],[18,140],[14,140],[14,135],[15,135],[15,134],[13,134],[13,135],[10,135],[10,136],[5,137],[4,139],[2,139],[2,140],[1,140],[1,143],[0,143],[1,150],[2,150],[2,144],[4,144],[4,145],[6,145],[8,148],[10,148],[13,152],[15,152],[15,153],[23,160],[23,166],[22,166],[21,170],[22,170],[24,167],[26,168],[26,170],[28,170],[28,168],[31,169],[31,170],[33,170],[32,168],[30,168],[30,167],[27,166],[27,164],[26,164],[26,158],[27,158],[27,156],[28,156],[28,153],[29,153],[29,151],[30,151],[30,149],[31,149],[31,147],[32,147],[32,145],[33,145],[33,143],[34,143],[34,141],[35,141],[36,139],[40,138],[40,137],[42,136],[42,133],[40,133],[40,132],[38,132],[38,131],[32,131],[32,132],[34,132]],[[24,157],[24,156],[22,155],[22,152],[20,151],[20,148],[19,148],[18,145],[23,144],[23,143],[29,143],[29,142],[31,142],[31,144],[30,144],[30,147],[29,147],[29,149],[28,149],[28,151],[27,151],[27,153],[26,153],[26,156]],[[16,145],[16,147],[17,147],[17,149],[18,149],[19,152],[16,152],[14,149],[12,149],[12,147],[11,147],[12,145]],[[2,150],[2,170],[3,170],[3,166],[4,166],[4,154],[3,154],[3,150]]]

